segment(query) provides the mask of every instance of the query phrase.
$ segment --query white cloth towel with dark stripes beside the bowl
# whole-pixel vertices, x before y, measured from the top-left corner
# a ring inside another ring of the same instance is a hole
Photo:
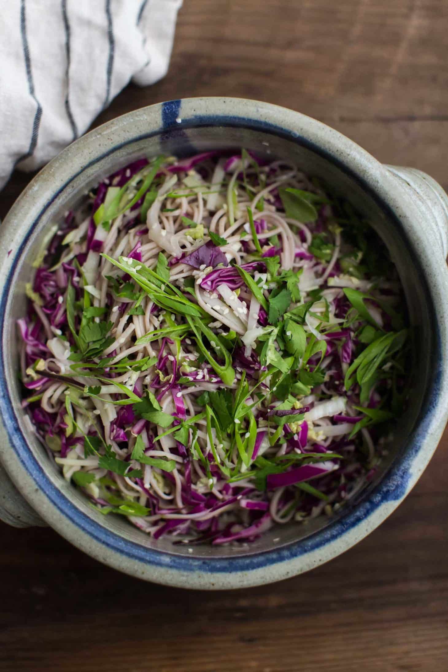
[[[0,17],[0,189],[82,135],[131,80],[166,73],[182,0],[9,0]]]

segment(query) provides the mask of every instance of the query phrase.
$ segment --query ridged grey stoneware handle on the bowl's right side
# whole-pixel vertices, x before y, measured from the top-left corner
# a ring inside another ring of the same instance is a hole
[[[432,234],[446,259],[448,255],[448,195],[433,177],[416,168],[390,165],[386,165],[386,168],[396,175],[402,187],[410,192],[414,200],[418,198],[420,201],[420,206],[427,214],[427,222],[432,228]]]

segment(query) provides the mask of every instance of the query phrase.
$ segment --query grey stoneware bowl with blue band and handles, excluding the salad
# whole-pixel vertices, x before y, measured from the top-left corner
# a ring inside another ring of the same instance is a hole
[[[339,517],[289,524],[238,548],[172,546],[120,517],[103,516],[69,485],[28,431],[17,380],[15,321],[46,230],[76,207],[99,177],[142,155],[185,156],[245,147],[292,159],[345,196],[382,236],[404,285],[415,389],[375,480]],[[83,136],[26,188],[0,227],[0,518],[50,525],[94,558],[130,575],[189,588],[278,581],[339,555],[374,530],[427,466],[448,409],[448,198],[414,169],[384,166],[332,128],[298,112],[232,98],[170,101],[126,114]]]

